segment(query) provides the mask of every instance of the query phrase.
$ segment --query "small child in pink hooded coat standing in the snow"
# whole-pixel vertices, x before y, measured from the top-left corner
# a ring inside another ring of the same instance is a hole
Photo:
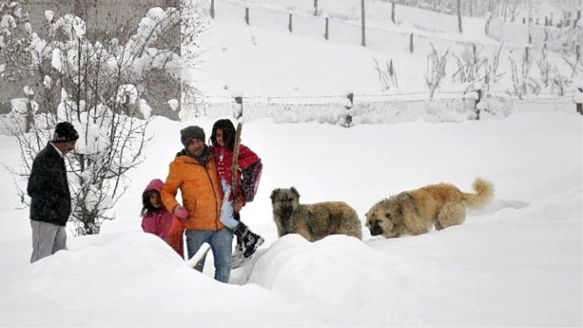
[[[184,259],[184,224],[170,211],[166,210],[160,199],[160,190],[164,183],[160,179],[152,180],[142,193],[142,229],[163,239],[178,255]]]

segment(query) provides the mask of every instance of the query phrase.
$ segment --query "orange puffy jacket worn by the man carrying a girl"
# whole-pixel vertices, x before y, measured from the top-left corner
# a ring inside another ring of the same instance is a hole
[[[178,204],[176,193],[180,188],[182,206],[188,211],[184,224],[192,230],[220,230],[223,224],[219,222],[220,207],[223,193],[220,188],[215,158],[212,153],[202,166],[196,159],[178,153],[170,163],[170,171],[160,191],[162,203],[173,212]]]

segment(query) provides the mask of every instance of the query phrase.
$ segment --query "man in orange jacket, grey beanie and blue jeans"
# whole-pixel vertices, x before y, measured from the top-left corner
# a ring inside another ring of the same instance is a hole
[[[188,258],[207,242],[215,258],[215,280],[229,282],[233,232],[220,221],[223,194],[215,158],[205,144],[205,132],[192,125],[180,130],[184,149],[170,163],[170,171],[160,195],[164,206],[185,219]],[[180,188],[181,206],[176,200]],[[204,263],[195,268],[202,272]]]

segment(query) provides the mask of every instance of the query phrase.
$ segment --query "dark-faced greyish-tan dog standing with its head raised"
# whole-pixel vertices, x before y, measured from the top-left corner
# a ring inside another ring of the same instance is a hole
[[[280,237],[297,233],[310,242],[329,235],[362,239],[362,224],[356,211],[342,201],[300,204],[300,194],[291,187],[273,190],[271,204]]]

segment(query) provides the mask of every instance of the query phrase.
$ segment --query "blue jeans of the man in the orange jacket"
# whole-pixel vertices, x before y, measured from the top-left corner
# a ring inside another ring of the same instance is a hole
[[[202,244],[207,242],[215,258],[215,280],[220,282],[229,282],[231,274],[231,253],[233,253],[233,232],[224,227],[219,231],[213,230],[187,230],[186,247],[188,250],[188,259],[190,259]],[[205,267],[204,261],[195,267],[201,271]]]

